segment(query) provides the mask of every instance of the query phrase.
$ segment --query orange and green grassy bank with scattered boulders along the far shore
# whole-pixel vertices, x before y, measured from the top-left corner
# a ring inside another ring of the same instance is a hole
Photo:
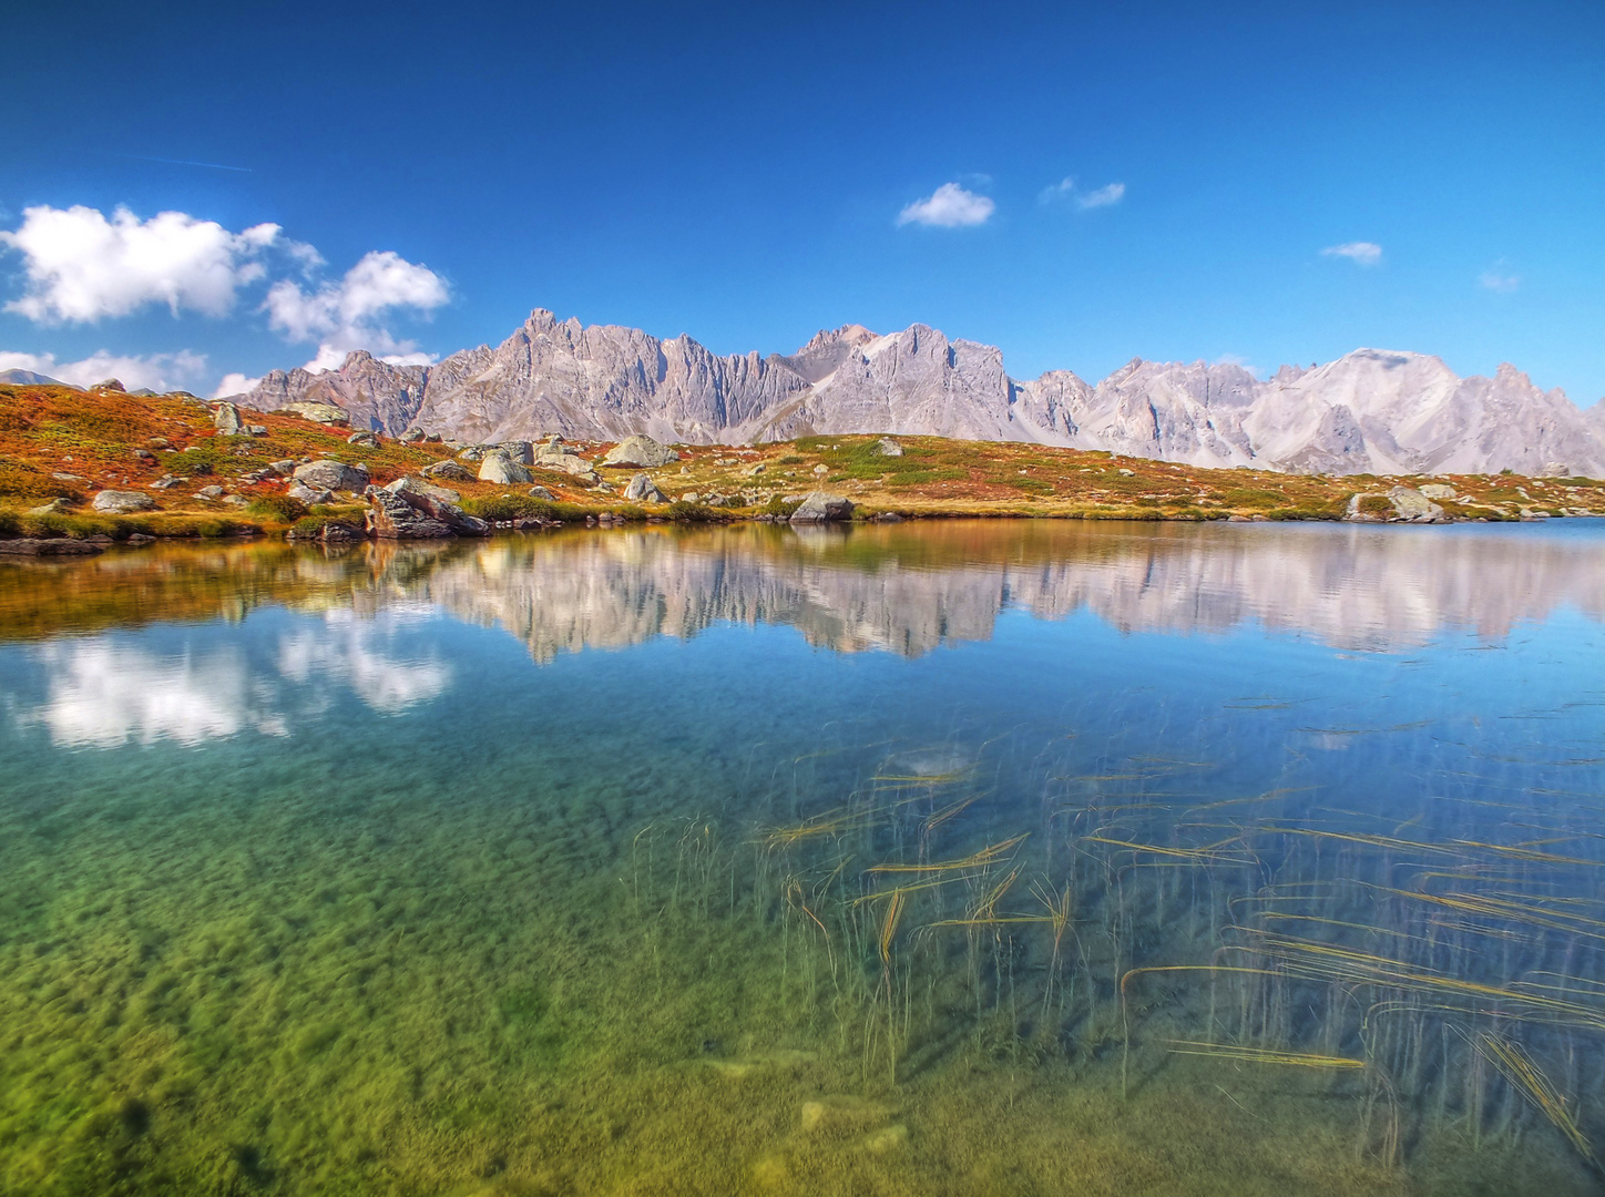
[[[273,462],[335,459],[364,465],[377,485],[416,473],[453,456],[440,443],[348,444],[348,428],[299,416],[246,412],[262,435],[221,436],[210,404],[186,395],[138,396],[64,387],[0,387],[0,538],[91,538],[133,534],[226,538],[315,533],[329,520],[360,521],[351,501],[305,509],[284,497],[284,480],[258,478]],[[811,489],[851,497],[862,517],[1048,517],[1087,520],[1337,520],[1355,494],[1372,496],[1361,510],[1384,515],[1380,496],[1395,485],[1435,481],[1454,489],[1440,499],[1454,518],[1515,520],[1534,515],[1605,515],[1605,483],[1518,475],[1289,475],[1270,470],[1209,470],[1175,462],[1117,457],[1038,444],[950,441],[899,436],[900,456],[878,449],[876,436],[806,436],[762,446],[682,446],[681,461],[652,470],[671,504],[626,504],[620,493],[632,469],[603,469],[607,486],[534,469],[528,486],[453,481],[464,507],[483,518],[583,521],[740,520],[786,515]],[[576,443],[597,459],[610,443]],[[470,470],[477,465],[467,462]],[[167,478],[178,485],[156,489]],[[205,488],[221,494],[204,496]],[[90,501],[101,489],[151,494],[156,510],[100,515]],[[63,499],[64,512],[30,515]]]

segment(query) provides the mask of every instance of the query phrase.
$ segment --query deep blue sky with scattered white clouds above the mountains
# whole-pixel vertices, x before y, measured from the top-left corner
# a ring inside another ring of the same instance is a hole
[[[236,8],[0,13],[0,366],[210,392],[546,306],[1605,395],[1594,0]]]

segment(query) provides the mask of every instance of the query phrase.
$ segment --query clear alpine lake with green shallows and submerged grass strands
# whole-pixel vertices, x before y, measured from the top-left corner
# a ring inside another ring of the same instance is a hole
[[[0,1192],[1592,1194],[1605,523],[0,565]]]

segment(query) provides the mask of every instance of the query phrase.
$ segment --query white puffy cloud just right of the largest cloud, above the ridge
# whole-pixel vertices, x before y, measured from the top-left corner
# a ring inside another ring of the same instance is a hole
[[[377,318],[396,308],[430,313],[449,298],[451,289],[435,271],[400,254],[374,250],[339,282],[303,289],[299,282],[281,279],[268,289],[262,306],[268,324],[287,340],[319,342],[307,369],[329,371],[356,348],[400,366],[433,361],[414,342],[396,340]]]

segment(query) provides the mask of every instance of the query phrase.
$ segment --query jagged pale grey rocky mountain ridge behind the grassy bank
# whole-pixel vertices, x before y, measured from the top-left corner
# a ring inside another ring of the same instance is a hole
[[[1514,366],[1461,379],[1420,353],[1355,350],[1284,366],[1133,359],[1091,385],[1069,371],[1019,382],[992,345],[915,324],[820,332],[790,356],[716,356],[690,337],[581,327],[536,310],[496,348],[435,366],[369,353],[337,371],[273,371],[241,403],[334,403],[355,427],[448,440],[647,433],[689,444],[815,433],[904,433],[1107,449],[1202,467],[1300,473],[1605,475],[1605,404],[1584,412]]]

